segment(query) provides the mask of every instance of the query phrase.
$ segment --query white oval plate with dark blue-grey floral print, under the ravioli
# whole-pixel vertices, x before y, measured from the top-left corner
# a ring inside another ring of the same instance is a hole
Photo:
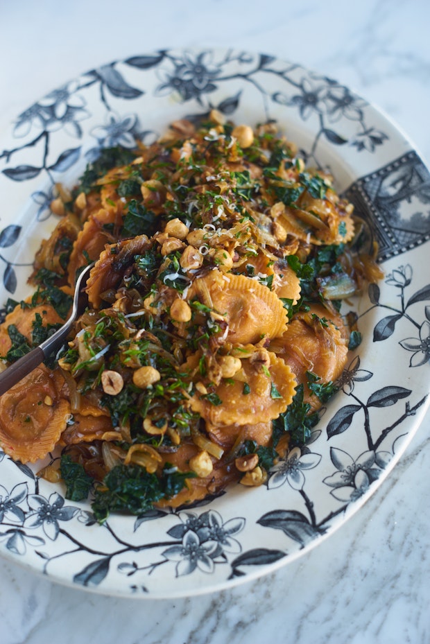
[[[101,146],[155,139],[216,107],[275,119],[372,223],[386,277],[356,304],[363,343],[313,440],[267,485],[236,485],[187,512],[112,516],[103,526],[62,485],[0,453],[1,553],[99,593],[173,598],[284,566],[359,510],[424,416],[430,359],[430,176],[411,143],[361,98],[297,64],[233,50],[160,51],[83,74],[20,114],[0,144],[0,302],[28,294],[55,225],[54,184],[72,186]]]

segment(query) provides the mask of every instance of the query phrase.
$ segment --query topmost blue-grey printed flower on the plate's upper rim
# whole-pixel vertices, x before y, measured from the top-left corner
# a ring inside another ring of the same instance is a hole
[[[198,98],[200,94],[213,92],[216,89],[214,80],[220,69],[212,65],[209,52],[202,51],[194,56],[184,53],[183,58],[174,62],[173,69],[160,69],[159,78],[162,84],[155,91],[156,96],[178,92],[183,101]]]

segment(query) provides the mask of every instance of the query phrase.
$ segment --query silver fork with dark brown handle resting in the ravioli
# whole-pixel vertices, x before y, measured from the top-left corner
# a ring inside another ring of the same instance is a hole
[[[19,358],[15,363],[7,367],[0,374],[0,396],[7,392],[13,385],[16,385],[24,376],[27,376],[30,372],[40,365],[48,356],[50,356],[55,349],[59,349],[63,344],[69,331],[76,320],[76,317],[83,312],[85,305],[87,303],[87,298],[83,293],[83,286],[85,286],[89,271],[94,266],[94,262],[85,266],[83,271],[80,273],[78,280],[75,285],[73,306],[71,308],[71,314],[67,322],[65,322],[60,329],[55,331],[50,338],[47,338],[40,344],[38,347],[31,349],[25,356]]]

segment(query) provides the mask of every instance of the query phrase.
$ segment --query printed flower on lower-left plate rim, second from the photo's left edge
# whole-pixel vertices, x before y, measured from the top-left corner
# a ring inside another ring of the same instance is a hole
[[[27,499],[28,507],[32,511],[26,516],[24,528],[39,528],[42,525],[46,537],[55,541],[60,531],[58,521],[70,521],[78,507],[65,505],[65,500],[57,492],[53,492],[49,499],[40,494],[31,494]]]

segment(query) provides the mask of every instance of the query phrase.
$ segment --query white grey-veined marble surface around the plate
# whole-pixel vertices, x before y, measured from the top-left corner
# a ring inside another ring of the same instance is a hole
[[[0,1],[0,132],[78,73],[173,46],[297,60],[381,107],[430,159],[427,0]],[[423,371],[429,378],[429,370]],[[2,644],[427,644],[430,414],[388,480],[318,548],[234,589],[142,602],[0,560]]]

